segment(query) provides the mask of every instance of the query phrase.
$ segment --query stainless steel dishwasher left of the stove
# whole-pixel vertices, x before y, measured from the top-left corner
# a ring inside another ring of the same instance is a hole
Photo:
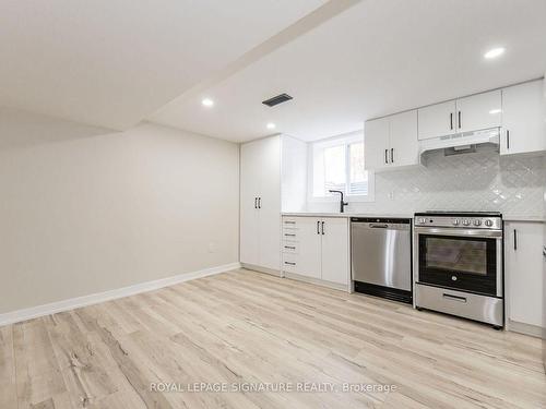
[[[351,218],[355,291],[412,303],[412,219]]]

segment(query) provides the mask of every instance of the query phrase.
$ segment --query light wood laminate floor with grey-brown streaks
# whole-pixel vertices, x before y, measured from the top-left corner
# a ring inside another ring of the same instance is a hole
[[[178,392],[200,382],[396,390]],[[363,407],[546,408],[541,342],[249,270],[0,328],[2,409]]]

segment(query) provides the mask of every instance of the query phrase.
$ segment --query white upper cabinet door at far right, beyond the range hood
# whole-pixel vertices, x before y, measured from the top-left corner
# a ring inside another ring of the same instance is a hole
[[[546,151],[544,81],[502,89],[502,136],[500,154]]]

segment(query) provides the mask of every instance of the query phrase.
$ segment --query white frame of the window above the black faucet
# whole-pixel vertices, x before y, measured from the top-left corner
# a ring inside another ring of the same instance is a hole
[[[364,131],[351,132],[324,140],[318,140],[309,143],[307,152],[307,202],[308,203],[335,203],[340,202],[340,197],[332,196],[314,196],[313,182],[314,182],[314,147],[317,144],[323,147],[345,145],[345,191],[351,181],[351,153],[348,146],[355,142],[364,143],[364,152],[366,153],[366,143]],[[342,142],[342,143],[340,143]],[[365,154],[366,157],[366,154]],[[366,169],[365,169],[366,170]],[[373,170],[366,170],[368,172],[368,194],[348,194],[344,192],[344,199],[351,202],[375,202],[376,201],[376,175]]]

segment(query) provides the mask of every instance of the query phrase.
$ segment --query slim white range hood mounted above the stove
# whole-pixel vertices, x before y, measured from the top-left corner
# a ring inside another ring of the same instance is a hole
[[[419,141],[419,154],[424,155],[438,149],[443,149],[446,155],[464,154],[476,152],[476,147],[480,145],[489,145],[498,149],[499,141],[500,128],[455,133]]]

